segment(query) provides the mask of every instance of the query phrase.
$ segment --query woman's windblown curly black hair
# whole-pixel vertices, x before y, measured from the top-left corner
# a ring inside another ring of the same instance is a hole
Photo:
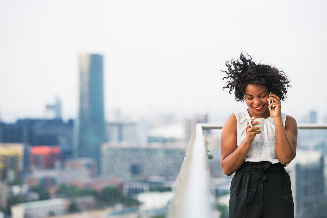
[[[248,55],[248,52],[246,53],[250,59],[247,59],[242,52],[240,59],[232,59],[230,63],[226,61],[228,72],[221,71],[227,73],[228,76],[221,79],[230,78],[230,80],[226,82],[223,90],[224,88],[229,88],[229,93],[232,94],[232,90],[235,89],[235,100],[243,102],[247,85],[263,84],[267,86],[269,92],[272,91],[273,94],[279,96],[280,100],[286,99],[287,88],[291,86],[284,71],[277,69],[274,65],[255,64],[252,61],[252,56]]]

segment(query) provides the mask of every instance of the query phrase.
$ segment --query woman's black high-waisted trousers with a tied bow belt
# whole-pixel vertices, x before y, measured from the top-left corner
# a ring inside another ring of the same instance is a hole
[[[294,218],[291,179],[280,162],[243,162],[231,182],[229,218]]]

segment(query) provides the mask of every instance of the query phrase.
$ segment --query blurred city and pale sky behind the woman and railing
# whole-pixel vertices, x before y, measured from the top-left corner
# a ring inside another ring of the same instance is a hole
[[[313,64],[324,61],[326,3],[264,4],[0,2],[0,218],[165,217],[195,125],[247,107],[219,73],[242,49],[290,75],[283,113],[327,123],[325,69]],[[244,25],[252,38],[240,42],[232,12],[266,30]],[[220,166],[220,130],[208,142],[225,218],[233,175]],[[297,218],[327,217],[326,158],[327,131],[299,130],[285,168]]]

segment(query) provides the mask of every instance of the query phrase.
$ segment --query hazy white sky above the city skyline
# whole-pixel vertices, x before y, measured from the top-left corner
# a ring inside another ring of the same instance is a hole
[[[43,117],[48,95],[77,115],[78,54],[104,55],[106,113],[244,109],[222,90],[248,51],[291,80],[282,112],[327,115],[325,1],[0,1],[0,117]]]

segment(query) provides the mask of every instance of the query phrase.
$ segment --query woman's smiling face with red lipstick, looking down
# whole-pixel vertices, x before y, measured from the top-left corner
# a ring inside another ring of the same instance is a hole
[[[268,110],[270,114],[267,98],[269,98],[269,90],[265,85],[248,85],[245,88],[245,101],[253,113],[263,114]]]

